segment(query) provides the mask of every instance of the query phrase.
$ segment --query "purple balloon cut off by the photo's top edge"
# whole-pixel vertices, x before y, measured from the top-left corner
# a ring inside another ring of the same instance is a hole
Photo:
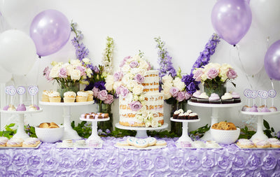
[[[212,25],[221,38],[231,45],[245,36],[252,22],[252,12],[246,0],[220,0],[211,13]]]

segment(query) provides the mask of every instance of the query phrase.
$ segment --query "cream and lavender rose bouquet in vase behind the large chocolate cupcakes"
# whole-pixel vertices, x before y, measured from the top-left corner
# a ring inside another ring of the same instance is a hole
[[[202,82],[204,92],[208,96],[216,93],[221,97],[226,92],[226,83],[230,82],[235,86],[232,80],[237,78],[237,73],[230,64],[209,63],[202,68],[196,68],[193,71],[193,78]]]

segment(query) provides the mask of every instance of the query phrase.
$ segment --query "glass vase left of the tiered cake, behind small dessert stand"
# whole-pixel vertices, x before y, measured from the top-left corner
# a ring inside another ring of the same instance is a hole
[[[102,132],[109,133],[113,131],[113,113],[111,112],[111,104],[97,104],[97,113],[109,113],[110,120],[97,122],[97,129],[102,129]],[[108,129],[108,130],[107,130]]]

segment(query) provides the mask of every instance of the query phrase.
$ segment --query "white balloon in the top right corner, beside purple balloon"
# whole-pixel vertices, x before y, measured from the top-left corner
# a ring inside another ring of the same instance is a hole
[[[250,1],[253,21],[255,21],[266,36],[272,37],[280,31],[280,1],[253,0]]]

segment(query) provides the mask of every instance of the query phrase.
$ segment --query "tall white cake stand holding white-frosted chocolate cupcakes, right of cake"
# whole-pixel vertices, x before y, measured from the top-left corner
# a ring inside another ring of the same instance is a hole
[[[200,106],[200,107],[206,107],[206,108],[212,108],[212,114],[211,114],[211,126],[218,123],[218,110],[219,108],[232,108],[232,107],[237,107],[241,106],[241,103],[237,104],[200,104],[200,103],[195,103],[192,101],[188,101],[188,104],[191,106]],[[212,136],[211,132],[207,131],[205,132],[204,136],[202,136],[202,140],[204,141],[211,141]]]

